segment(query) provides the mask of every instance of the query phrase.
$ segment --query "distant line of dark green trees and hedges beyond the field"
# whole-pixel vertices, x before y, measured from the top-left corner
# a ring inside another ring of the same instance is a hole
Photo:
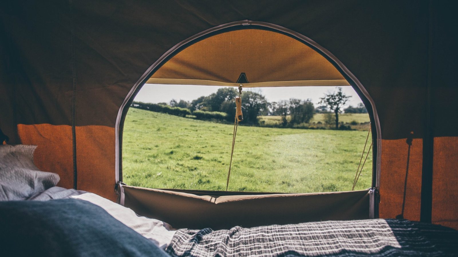
[[[235,101],[238,91],[235,88],[220,88],[209,96],[201,96],[191,102],[172,99],[169,103],[158,104],[133,102],[132,107],[146,109],[154,112],[164,112],[185,117],[194,115],[196,119],[234,121]],[[342,112],[344,104],[350,96],[338,91],[325,94],[320,98],[321,106],[314,107],[310,99],[301,100],[291,98],[279,102],[267,102],[265,96],[256,91],[244,91],[242,94],[243,123],[257,124],[259,116],[275,115],[281,117],[281,125],[309,123],[314,113],[334,113],[336,128],[338,114]],[[363,104],[357,107],[349,106],[344,109],[346,113],[367,113]],[[328,118],[329,119],[329,118]]]

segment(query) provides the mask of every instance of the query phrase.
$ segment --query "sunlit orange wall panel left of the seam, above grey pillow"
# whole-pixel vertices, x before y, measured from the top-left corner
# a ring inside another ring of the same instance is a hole
[[[71,126],[17,125],[21,144],[37,145],[33,162],[42,171],[59,174],[59,187],[73,188],[73,147]]]

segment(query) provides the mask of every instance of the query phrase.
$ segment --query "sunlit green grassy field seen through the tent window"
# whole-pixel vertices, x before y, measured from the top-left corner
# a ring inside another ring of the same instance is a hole
[[[131,108],[123,180],[153,188],[225,190],[233,125]],[[239,126],[229,190],[351,190],[367,132]],[[356,189],[371,186],[371,154]]]

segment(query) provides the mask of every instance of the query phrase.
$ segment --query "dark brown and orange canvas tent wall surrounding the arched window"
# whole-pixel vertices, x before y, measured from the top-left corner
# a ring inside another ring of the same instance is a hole
[[[38,145],[37,166],[59,173],[60,186],[114,200],[116,124],[133,86],[183,40],[229,22],[262,21],[327,49],[373,99],[380,216],[458,227],[458,40],[450,6],[3,1],[0,12],[1,129],[10,143]]]

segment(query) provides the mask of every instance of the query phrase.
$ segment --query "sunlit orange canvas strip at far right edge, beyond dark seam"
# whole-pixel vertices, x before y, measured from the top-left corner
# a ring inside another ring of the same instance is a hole
[[[432,215],[436,224],[458,229],[458,137],[434,138]]]

